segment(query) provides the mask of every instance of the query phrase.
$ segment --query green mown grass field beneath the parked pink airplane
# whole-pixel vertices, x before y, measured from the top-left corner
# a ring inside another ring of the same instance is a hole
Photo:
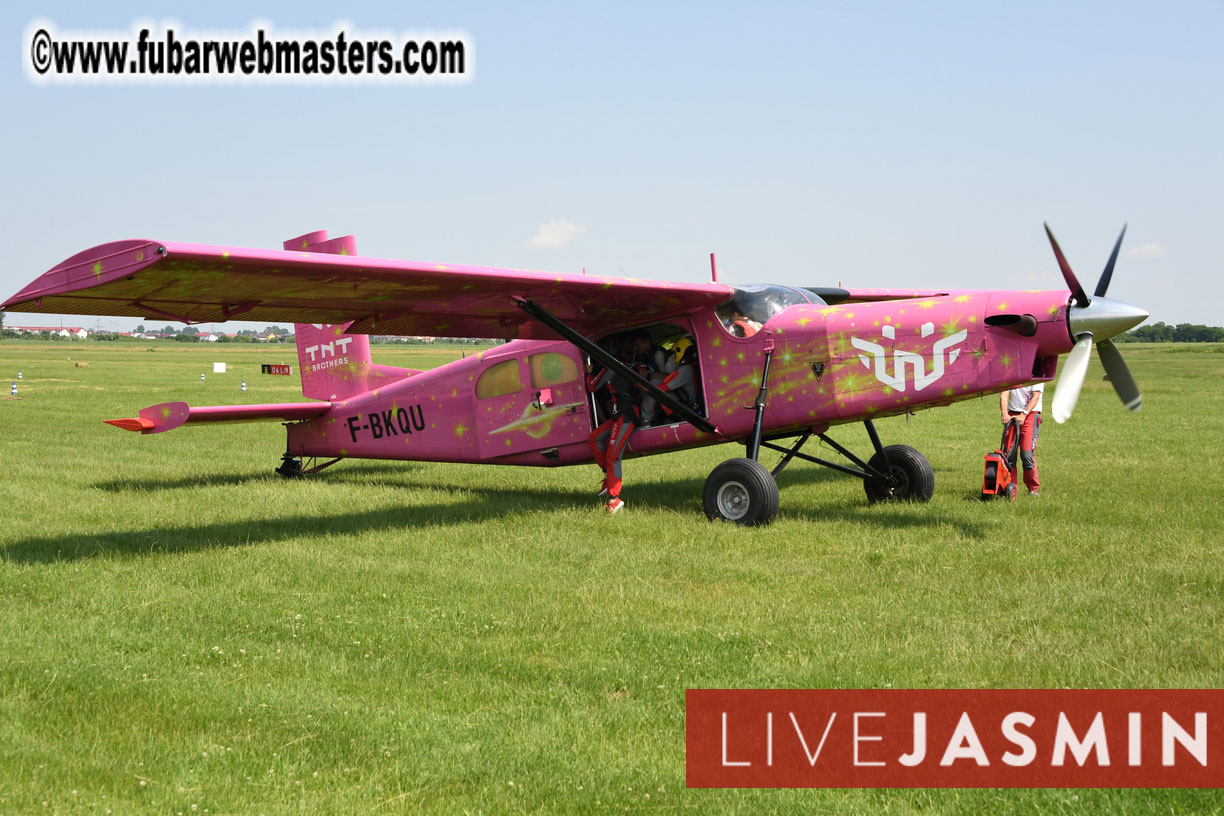
[[[701,514],[730,447],[629,461],[612,517],[594,466],[275,478],[275,423],[99,420],[297,401],[257,373],[293,347],[147,349],[0,343],[0,814],[1224,812],[1218,790],[684,787],[687,688],[1220,686],[1224,346],[1122,346],[1136,416],[1094,361],[1043,428],[1038,499],[976,500],[999,421],[974,400],[879,423],[930,458],[929,504],[799,462],[764,530]],[[231,373],[201,382],[213,360]]]

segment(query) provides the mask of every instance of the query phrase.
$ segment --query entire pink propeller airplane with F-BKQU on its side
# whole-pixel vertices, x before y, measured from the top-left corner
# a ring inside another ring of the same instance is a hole
[[[928,500],[930,462],[911,447],[883,445],[873,420],[1051,380],[1059,355],[1070,352],[1053,400],[1064,422],[1093,344],[1118,395],[1137,411],[1138,388],[1110,338],[1147,312],[1104,297],[1122,235],[1091,299],[1053,235],[1070,292],[676,284],[364,258],[351,236],[311,232],[284,250],[104,243],[40,275],[4,308],[295,322],[302,393],[312,401],[166,402],[108,420],[141,433],[279,420],[288,444],[277,470],[285,476],[348,458],[541,467],[602,460],[589,437],[614,409],[584,374],[603,367],[640,389],[655,412],[628,437],[627,458],[745,445],[745,456],[710,473],[703,504],[710,519],[758,525],[777,515],[775,478],[796,458],[863,480],[869,502]],[[616,345],[627,333],[649,335],[670,373],[688,366],[689,384],[668,388],[671,379],[625,365]],[[412,371],[372,362],[370,334],[512,341]],[[867,427],[869,459],[826,436],[848,422]],[[813,436],[848,464],[802,453]],[[761,448],[783,454],[772,471],[759,462]]]

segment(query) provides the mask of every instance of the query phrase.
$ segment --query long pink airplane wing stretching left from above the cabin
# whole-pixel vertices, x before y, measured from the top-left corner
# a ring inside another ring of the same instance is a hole
[[[2,308],[187,323],[355,321],[348,329],[355,334],[552,339],[517,297],[590,334],[694,312],[731,294],[722,284],[136,240],[72,256]]]

